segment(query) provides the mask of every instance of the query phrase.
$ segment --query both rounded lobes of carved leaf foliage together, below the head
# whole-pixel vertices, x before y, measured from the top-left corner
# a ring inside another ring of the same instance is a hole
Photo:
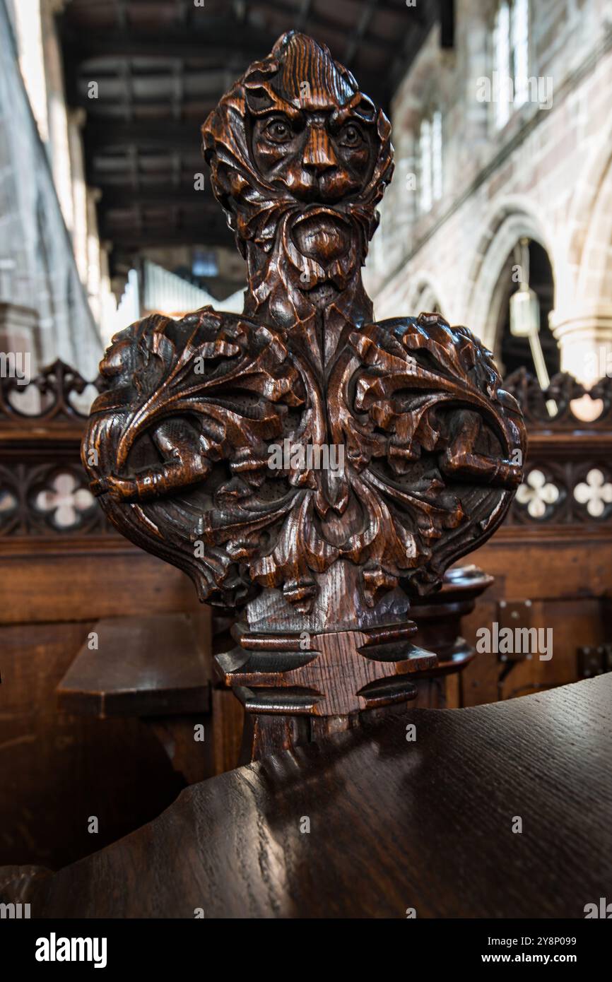
[[[280,586],[305,612],[316,574],[338,559],[361,567],[368,606],[400,581],[427,588],[449,555],[473,548],[501,518],[503,489],[520,477],[508,460],[520,431],[502,407],[512,410],[511,397],[470,332],[441,318],[350,330],[326,394],[286,332],[247,318],[204,310],[154,319],[119,336],[111,364],[126,345],[129,405],[113,404],[106,423],[98,417],[108,394],[93,407],[90,440],[106,473],[89,467],[94,489],[145,548],[171,557],[178,547],[176,565],[213,602]],[[288,409],[298,412],[293,426]],[[108,430],[103,439],[96,427]],[[270,444],[281,437],[292,447],[344,446],[345,467],[271,471]],[[482,482],[498,488],[484,505]],[[488,522],[477,525],[474,508],[488,509]],[[451,543],[443,533],[453,529],[463,534]]]

